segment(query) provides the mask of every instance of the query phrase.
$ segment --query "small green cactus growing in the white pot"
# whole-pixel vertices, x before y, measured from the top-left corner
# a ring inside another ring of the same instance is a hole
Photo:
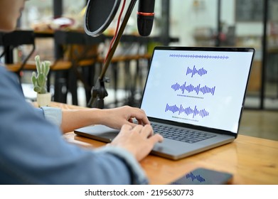
[[[50,62],[41,62],[39,55],[36,55],[35,61],[37,72],[33,72],[31,77],[31,81],[33,83],[33,90],[40,94],[46,94],[46,81],[48,79],[48,72],[50,70]]]

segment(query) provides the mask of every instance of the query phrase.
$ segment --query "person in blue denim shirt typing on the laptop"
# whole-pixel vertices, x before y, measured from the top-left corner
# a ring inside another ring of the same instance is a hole
[[[25,0],[0,1],[0,31],[13,31]],[[1,184],[148,183],[141,161],[162,141],[144,111],[132,107],[65,110],[33,108],[24,99],[16,75],[0,66]],[[136,118],[139,125],[132,123]],[[82,149],[61,132],[105,124],[121,129],[109,146]]]

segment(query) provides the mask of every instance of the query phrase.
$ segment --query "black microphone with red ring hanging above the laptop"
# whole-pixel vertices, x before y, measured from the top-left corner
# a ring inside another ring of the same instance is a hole
[[[154,23],[154,0],[139,0],[137,28],[140,36],[149,36]]]

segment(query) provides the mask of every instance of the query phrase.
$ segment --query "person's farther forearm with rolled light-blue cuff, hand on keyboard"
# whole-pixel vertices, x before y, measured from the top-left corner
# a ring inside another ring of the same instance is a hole
[[[46,119],[60,126],[64,133],[92,124],[103,124],[113,129],[121,129],[124,124],[132,127],[136,127],[137,124],[149,124],[143,110],[129,106],[114,109],[42,109]],[[137,124],[133,123],[133,118],[137,119]]]

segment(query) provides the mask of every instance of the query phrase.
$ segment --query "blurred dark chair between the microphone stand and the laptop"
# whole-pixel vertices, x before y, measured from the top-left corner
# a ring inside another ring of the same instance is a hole
[[[111,39],[111,38],[109,38]],[[151,39],[141,38],[139,36],[123,35],[121,38],[121,53],[114,55],[111,60],[111,70],[114,80],[114,106],[118,106],[117,90],[119,81],[124,82],[124,91],[126,97],[121,104],[130,106],[138,106],[138,97],[144,86],[144,70],[147,69],[146,62],[149,63],[151,56],[146,52],[147,43]],[[132,68],[132,63],[135,63],[135,71]],[[119,74],[119,67],[124,66],[124,73]]]

